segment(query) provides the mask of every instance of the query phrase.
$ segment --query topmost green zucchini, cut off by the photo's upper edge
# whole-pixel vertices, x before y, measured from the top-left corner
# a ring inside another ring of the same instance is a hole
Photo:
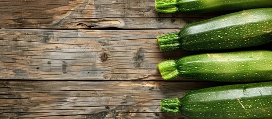
[[[212,11],[272,7],[271,0],[156,0],[158,12],[207,13]]]

